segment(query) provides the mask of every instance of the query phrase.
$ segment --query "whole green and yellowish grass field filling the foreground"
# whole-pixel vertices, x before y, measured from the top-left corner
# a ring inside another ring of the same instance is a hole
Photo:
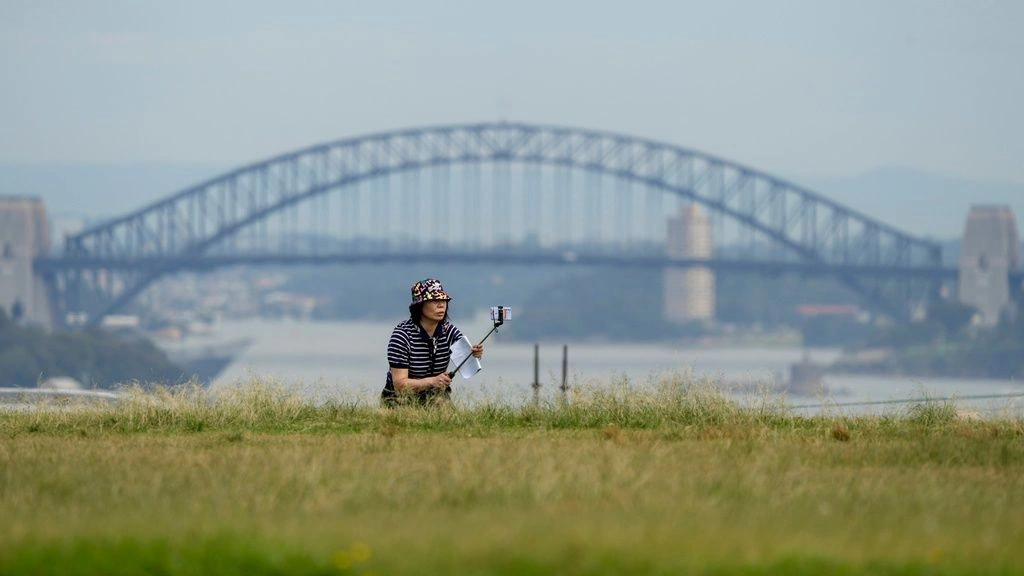
[[[254,382],[0,412],[0,574],[1020,574],[1024,422],[676,379],[381,410]]]

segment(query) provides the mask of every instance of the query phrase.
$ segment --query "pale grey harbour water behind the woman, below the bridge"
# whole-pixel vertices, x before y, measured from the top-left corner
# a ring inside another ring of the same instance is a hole
[[[397,322],[398,319],[395,320]],[[490,329],[487,318],[456,322],[471,340]],[[219,339],[252,338],[253,345],[211,386],[230,385],[260,377],[294,386],[311,398],[344,398],[376,403],[387,372],[385,348],[394,323],[298,322],[292,320],[230,321],[220,325]],[[483,371],[472,379],[456,377],[456,398],[523,403],[532,399],[534,344],[513,341],[509,322],[485,343]],[[561,341],[540,343],[542,399],[560,395]],[[836,349],[811,352],[814,362],[828,363]],[[981,414],[1024,414],[1024,398],[966,400],[970,396],[1022,395],[1024,382],[1011,380],[919,378],[911,376],[825,376],[827,394],[811,397],[766,393],[780,384],[804,353],[798,347],[686,348],[670,344],[568,343],[568,384],[607,385],[628,378],[649,385],[659,375],[686,374],[715,382],[736,400],[758,404],[783,398],[807,413],[831,410],[846,414],[892,413],[905,405],[859,405],[921,398],[955,397],[958,407]],[[755,389],[761,388],[761,389]],[[824,406],[830,406],[825,408]]]

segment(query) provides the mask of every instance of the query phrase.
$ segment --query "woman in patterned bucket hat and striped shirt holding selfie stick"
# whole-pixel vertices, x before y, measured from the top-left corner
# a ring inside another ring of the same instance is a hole
[[[381,390],[385,406],[426,405],[446,401],[452,394],[452,345],[463,337],[449,321],[452,296],[435,278],[417,282],[411,291],[410,318],[394,327],[387,343],[388,373]],[[473,345],[472,355],[482,358],[483,345]]]

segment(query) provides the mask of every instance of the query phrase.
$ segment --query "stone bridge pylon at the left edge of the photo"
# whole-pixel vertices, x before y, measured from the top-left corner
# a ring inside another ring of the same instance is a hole
[[[50,251],[46,206],[39,198],[0,196],[0,306],[8,317],[51,325],[46,287],[32,260]]]

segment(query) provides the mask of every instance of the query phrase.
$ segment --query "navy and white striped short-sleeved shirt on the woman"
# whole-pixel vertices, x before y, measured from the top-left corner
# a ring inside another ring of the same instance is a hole
[[[429,378],[447,370],[452,359],[452,344],[462,338],[462,332],[444,320],[434,329],[433,337],[412,319],[399,322],[387,343],[389,368],[407,368],[410,378]],[[444,390],[445,393],[447,390]],[[418,396],[425,402],[436,390],[423,390]],[[388,370],[381,398],[385,402],[395,398],[394,382]]]

